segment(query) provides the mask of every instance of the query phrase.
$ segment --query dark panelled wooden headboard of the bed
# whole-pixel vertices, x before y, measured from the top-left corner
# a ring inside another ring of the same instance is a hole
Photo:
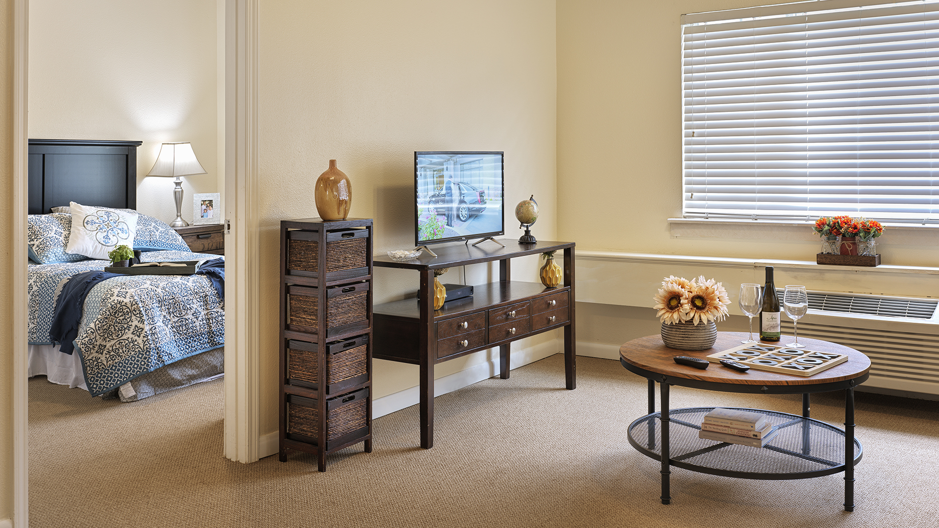
[[[137,209],[141,141],[29,140],[29,214],[76,202]]]

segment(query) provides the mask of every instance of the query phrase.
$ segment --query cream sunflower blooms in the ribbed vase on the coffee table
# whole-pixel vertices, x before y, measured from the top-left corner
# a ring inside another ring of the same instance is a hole
[[[665,324],[677,324],[692,321],[722,321],[728,316],[727,306],[731,303],[727,290],[714,279],[687,280],[670,275],[662,280],[662,287],[654,296],[654,308],[658,318]]]

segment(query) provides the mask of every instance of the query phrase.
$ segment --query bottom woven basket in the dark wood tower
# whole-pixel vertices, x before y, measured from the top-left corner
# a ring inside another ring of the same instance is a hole
[[[326,400],[326,441],[331,442],[362,427],[368,427],[368,389]],[[291,396],[287,434],[319,438],[319,411],[316,400]],[[327,445],[329,448],[329,445]]]

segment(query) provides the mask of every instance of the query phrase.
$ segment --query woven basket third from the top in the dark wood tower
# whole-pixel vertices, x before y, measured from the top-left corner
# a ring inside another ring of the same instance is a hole
[[[287,341],[287,378],[291,383],[316,387],[319,383],[318,346],[305,341]],[[327,392],[331,386],[368,376],[368,335],[326,345]]]

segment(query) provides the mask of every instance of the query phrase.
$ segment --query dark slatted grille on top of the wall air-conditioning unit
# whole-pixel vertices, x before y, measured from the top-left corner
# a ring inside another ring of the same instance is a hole
[[[777,293],[781,302],[783,290],[777,288]],[[874,297],[827,291],[808,292],[808,307],[810,309],[865,316],[931,319],[935,314],[937,305],[939,305],[939,301],[928,299]]]

